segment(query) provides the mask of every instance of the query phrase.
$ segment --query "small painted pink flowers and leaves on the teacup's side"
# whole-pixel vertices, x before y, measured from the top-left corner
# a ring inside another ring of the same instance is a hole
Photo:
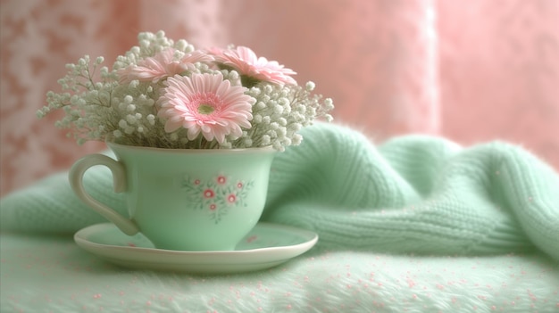
[[[253,185],[253,181],[245,182],[225,175],[218,175],[209,181],[188,175],[182,179],[188,205],[196,210],[207,210],[215,224],[230,209],[246,207],[246,195]]]

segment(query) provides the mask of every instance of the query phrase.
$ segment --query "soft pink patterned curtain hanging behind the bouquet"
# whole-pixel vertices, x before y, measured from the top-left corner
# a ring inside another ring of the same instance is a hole
[[[559,169],[559,1],[2,0],[1,193],[66,169],[76,146],[38,120],[64,64],[111,61],[139,31],[247,45],[313,80],[373,140],[503,139]]]

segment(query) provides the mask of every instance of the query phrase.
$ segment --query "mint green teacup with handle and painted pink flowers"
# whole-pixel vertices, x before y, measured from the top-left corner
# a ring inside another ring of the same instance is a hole
[[[262,215],[272,148],[175,150],[107,143],[118,161],[90,154],[70,171],[72,189],[127,235],[141,232],[158,249],[234,250]],[[85,172],[104,165],[129,217],[91,197]]]

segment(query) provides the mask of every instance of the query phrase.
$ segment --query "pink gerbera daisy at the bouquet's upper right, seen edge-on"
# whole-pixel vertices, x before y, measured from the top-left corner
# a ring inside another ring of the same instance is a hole
[[[276,61],[268,61],[264,57],[257,57],[256,54],[246,46],[238,46],[236,49],[229,50],[210,50],[215,54],[215,60],[237,70],[239,74],[255,78],[257,80],[269,81],[283,86],[284,84],[296,85],[296,80],[289,75],[296,75],[296,72],[286,69]]]

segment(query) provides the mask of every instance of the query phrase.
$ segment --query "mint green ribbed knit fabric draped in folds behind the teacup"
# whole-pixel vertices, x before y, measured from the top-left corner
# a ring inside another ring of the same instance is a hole
[[[461,147],[436,136],[382,144],[318,123],[278,153],[263,220],[311,229],[326,250],[486,255],[538,248],[559,260],[559,176],[513,144]],[[90,193],[124,212],[104,168]],[[0,202],[2,229],[74,232],[103,221],[71,194],[65,173]]]

